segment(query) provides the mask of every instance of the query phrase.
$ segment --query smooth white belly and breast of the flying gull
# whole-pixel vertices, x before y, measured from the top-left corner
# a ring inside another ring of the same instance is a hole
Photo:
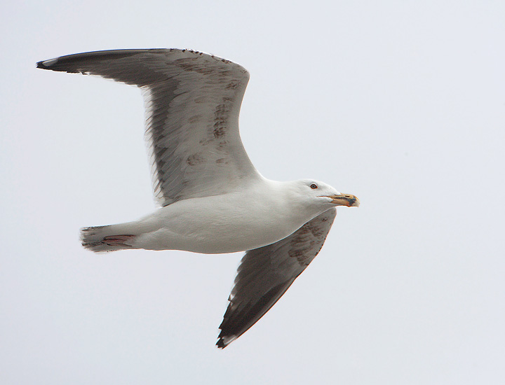
[[[283,183],[264,181],[224,195],[181,200],[139,221],[114,225],[133,234],[134,248],[232,253],[288,237],[325,211],[283,194]]]

